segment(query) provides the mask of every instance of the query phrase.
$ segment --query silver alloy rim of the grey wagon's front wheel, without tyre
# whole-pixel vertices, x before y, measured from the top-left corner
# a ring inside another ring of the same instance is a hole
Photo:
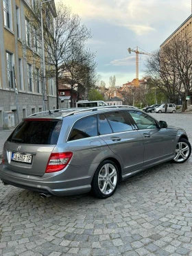
[[[180,162],[185,161],[189,157],[189,154],[190,154],[189,145],[184,141],[178,142],[177,146],[176,146],[175,154],[176,154],[176,156],[173,159],[175,162],[180,163]]]

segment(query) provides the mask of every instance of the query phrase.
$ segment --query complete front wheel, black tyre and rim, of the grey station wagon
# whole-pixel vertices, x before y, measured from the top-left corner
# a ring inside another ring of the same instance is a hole
[[[176,156],[173,159],[174,163],[184,163],[191,155],[191,144],[187,139],[181,138],[176,146]]]

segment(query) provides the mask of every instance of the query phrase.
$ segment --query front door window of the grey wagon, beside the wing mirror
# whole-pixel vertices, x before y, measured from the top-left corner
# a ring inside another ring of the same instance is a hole
[[[152,117],[149,117],[149,115],[136,110],[129,110],[128,112],[134,119],[139,130],[157,128],[156,121]]]

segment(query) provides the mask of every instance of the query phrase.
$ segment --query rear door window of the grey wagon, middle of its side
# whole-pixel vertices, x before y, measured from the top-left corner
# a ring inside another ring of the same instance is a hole
[[[128,119],[128,115],[123,111],[115,111],[105,114],[113,132],[125,132],[132,130],[132,125]]]

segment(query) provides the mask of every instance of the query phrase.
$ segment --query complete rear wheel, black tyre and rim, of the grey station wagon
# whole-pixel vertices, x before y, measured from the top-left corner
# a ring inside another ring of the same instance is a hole
[[[110,177],[110,174],[113,174]],[[108,198],[115,193],[119,183],[119,170],[117,165],[110,160],[105,160],[99,164],[93,181],[91,191],[93,196],[101,199]]]

